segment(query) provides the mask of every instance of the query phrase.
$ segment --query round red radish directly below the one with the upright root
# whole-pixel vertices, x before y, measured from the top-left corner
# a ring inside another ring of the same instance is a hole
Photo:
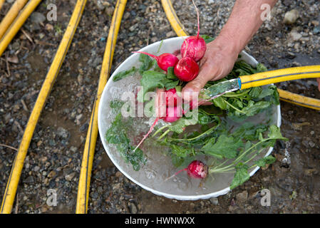
[[[175,65],[174,73],[180,81],[192,81],[199,73],[199,66],[192,58],[185,56]]]

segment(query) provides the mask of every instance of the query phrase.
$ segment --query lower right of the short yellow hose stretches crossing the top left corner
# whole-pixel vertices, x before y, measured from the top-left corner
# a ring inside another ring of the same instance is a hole
[[[17,16],[14,22],[12,22],[11,26],[0,40],[0,56],[2,53],[4,53],[4,50],[6,50],[6,47],[9,45],[14,36],[16,36],[16,33],[24,24],[24,21],[28,19],[30,14],[34,9],[36,9],[36,6],[38,6],[40,2],[41,0],[30,0],[28,4],[24,6],[24,9],[20,12],[19,16]]]

